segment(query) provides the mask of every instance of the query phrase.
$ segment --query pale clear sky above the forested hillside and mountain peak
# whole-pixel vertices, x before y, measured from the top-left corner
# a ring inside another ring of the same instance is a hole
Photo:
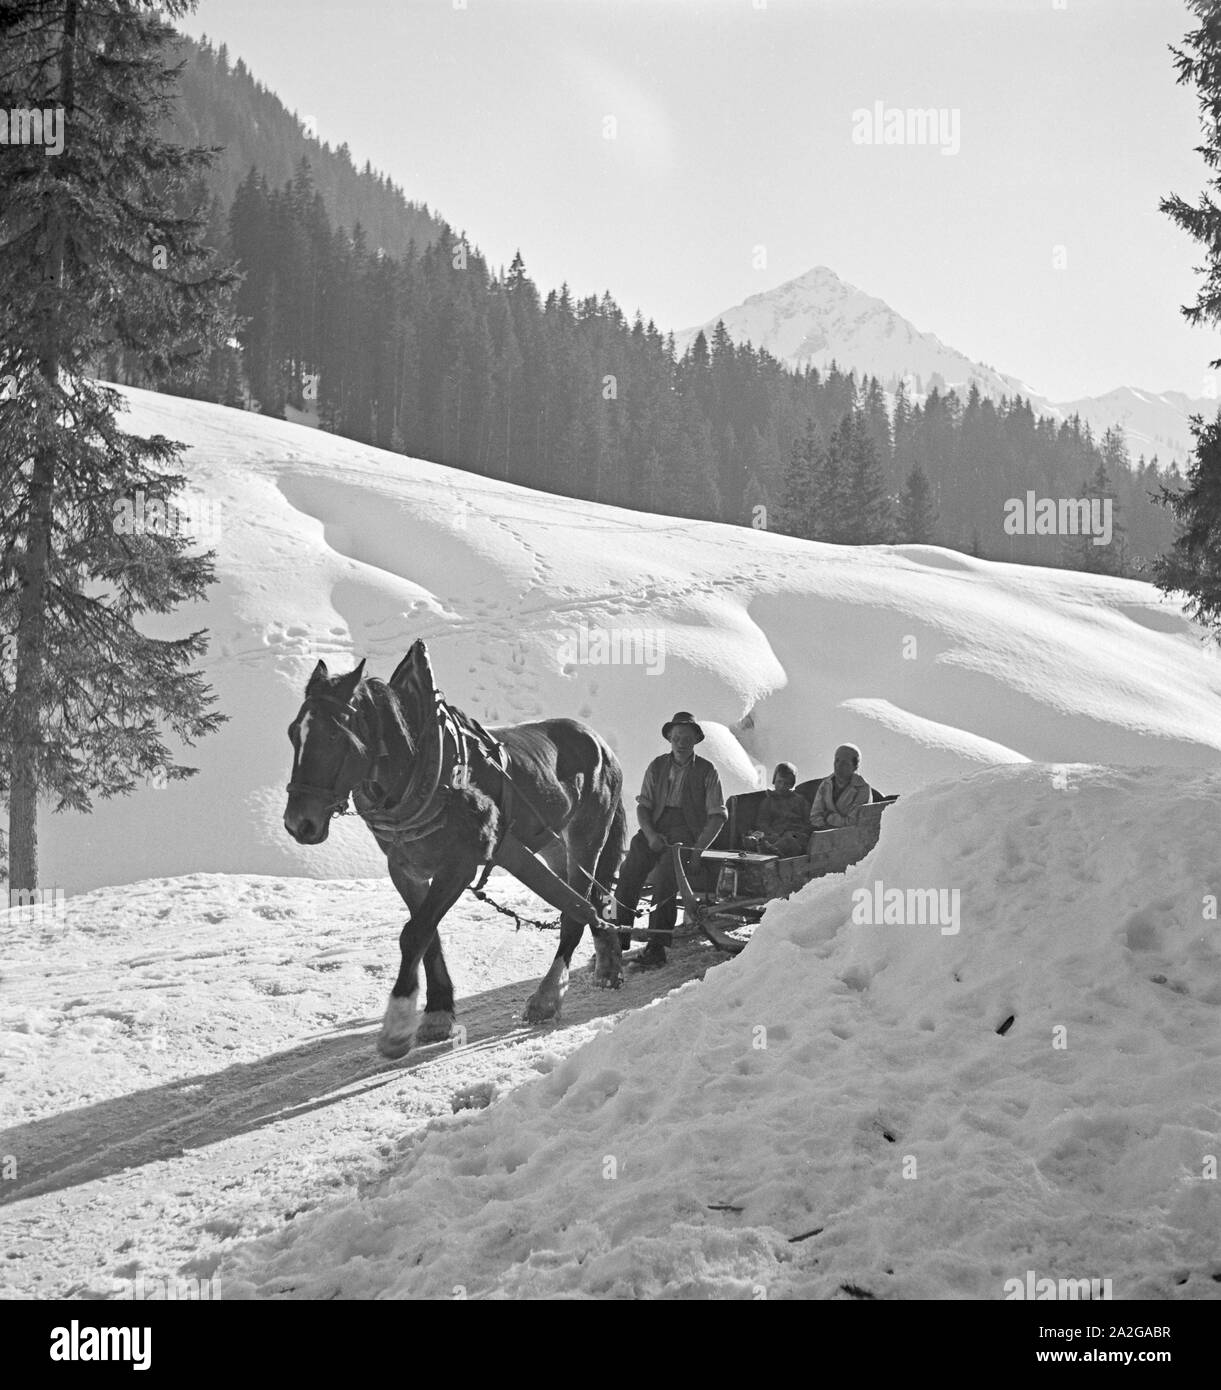
[[[1221,357],[1157,206],[1204,186],[1168,51],[1192,25],[1182,0],[200,0],[184,26],[544,292],[681,329],[823,264],[1071,400],[1200,396]],[[876,103],[957,138],[865,143]]]

